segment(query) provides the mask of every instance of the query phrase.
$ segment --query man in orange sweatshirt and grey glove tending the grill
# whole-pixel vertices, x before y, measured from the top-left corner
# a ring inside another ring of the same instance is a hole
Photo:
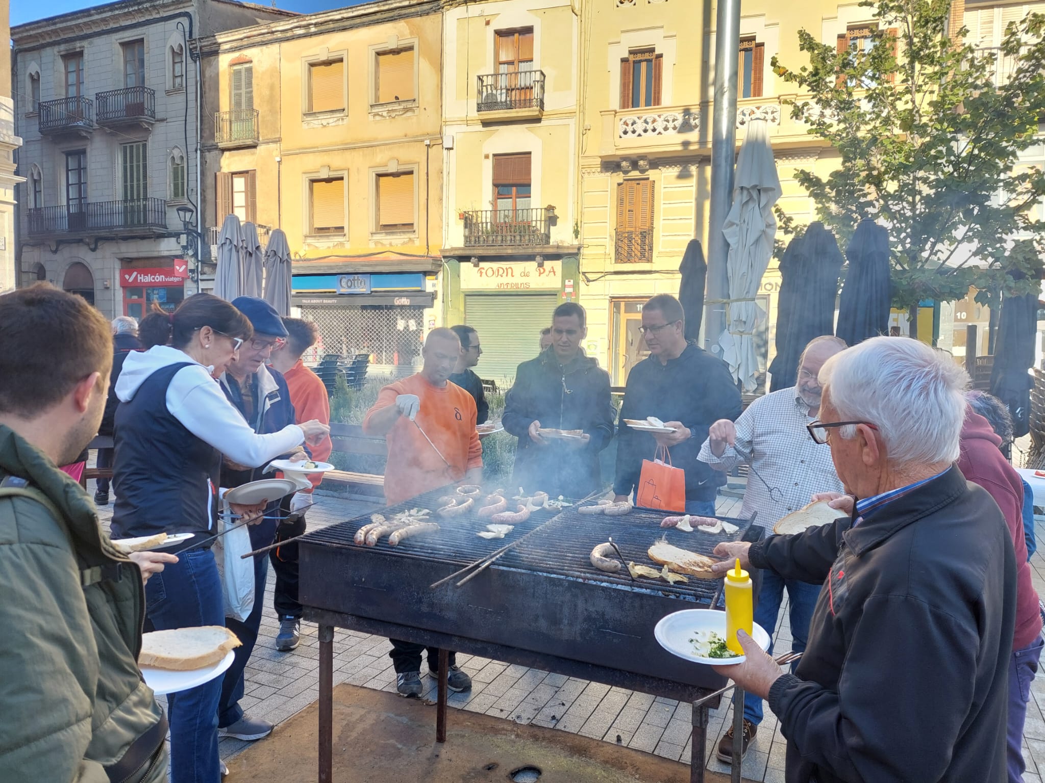
[[[389,384],[363,420],[368,435],[388,442],[385,498],[389,505],[450,483],[483,480],[483,447],[475,432],[475,401],[449,377],[461,355],[461,340],[449,329],[433,329],[424,341],[421,372]],[[423,434],[422,434],[423,430]],[[427,435],[427,438],[425,437]],[[432,443],[428,443],[428,438]],[[438,451],[437,451],[438,450]],[[396,690],[419,697],[423,644],[392,641]],[[439,650],[428,648],[428,673],[436,677]],[[449,655],[447,684],[452,691],[471,688],[471,679]]]

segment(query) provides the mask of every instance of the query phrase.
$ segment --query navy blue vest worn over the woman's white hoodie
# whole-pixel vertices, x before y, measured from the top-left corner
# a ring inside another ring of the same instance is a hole
[[[167,410],[167,387],[189,362],[153,373],[116,409],[112,537],[191,532],[205,538],[217,519],[222,453]],[[216,381],[215,381],[216,383]],[[180,544],[185,546],[185,544]]]

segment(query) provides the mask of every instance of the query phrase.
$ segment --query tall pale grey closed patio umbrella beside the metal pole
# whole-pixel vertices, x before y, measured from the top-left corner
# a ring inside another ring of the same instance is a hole
[[[734,380],[753,392],[759,374],[754,350],[754,330],[766,313],[754,301],[762,276],[769,266],[776,235],[773,205],[781,195],[773,150],[764,120],[753,120],[737,157],[733,207],[722,226],[729,245],[726,274],[729,302],[726,307],[726,331],[719,337],[722,358],[729,365]]]

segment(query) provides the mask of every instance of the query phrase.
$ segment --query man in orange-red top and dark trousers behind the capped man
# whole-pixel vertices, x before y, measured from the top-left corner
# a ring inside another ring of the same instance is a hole
[[[330,399],[326,386],[316,373],[305,366],[302,354],[316,345],[319,339],[319,329],[309,321],[301,318],[283,318],[287,331],[286,342],[282,348],[272,352],[272,365],[283,374],[286,386],[291,392],[291,404],[294,406],[295,422],[307,422],[312,419],[330,424]],[[327,435],[318,446],[308,447],[312,459],[325,462],[330,458],[333,445]],[[276,539],[282,541],[305,531],[304,509],[311,505],[311,493],[320,481],[322,473],[308,476],[311,487],[302,490],[291,499],[292,520],[276,528]],[[273,607],[279,617],[279,635],[276,637],[276,649],[287,652],[298,646],[301,639],[301,603],[298,602],[298,545],[287,544],[274,549],[269,555],[273,570],[276,572],[276,588],[273,593]]]

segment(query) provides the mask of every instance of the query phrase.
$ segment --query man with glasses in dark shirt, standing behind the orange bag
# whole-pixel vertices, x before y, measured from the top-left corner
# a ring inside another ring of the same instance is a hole
[[[740,390],[724,361],[687,342],[684,318],[678,300],[667,293],[643,306],[642,332],[650,356],[628,374],[613,492],[618,500],[627,500],[638,483],[643,460],[653,459],[657,446],[664,446],[671,464],[686,471],[686,512],[711,517],[725,474],[698,461],[697,454],[714,422],[740,416]],[[675,431],[650,434],[624,425],[625,419],[651,416]]]

